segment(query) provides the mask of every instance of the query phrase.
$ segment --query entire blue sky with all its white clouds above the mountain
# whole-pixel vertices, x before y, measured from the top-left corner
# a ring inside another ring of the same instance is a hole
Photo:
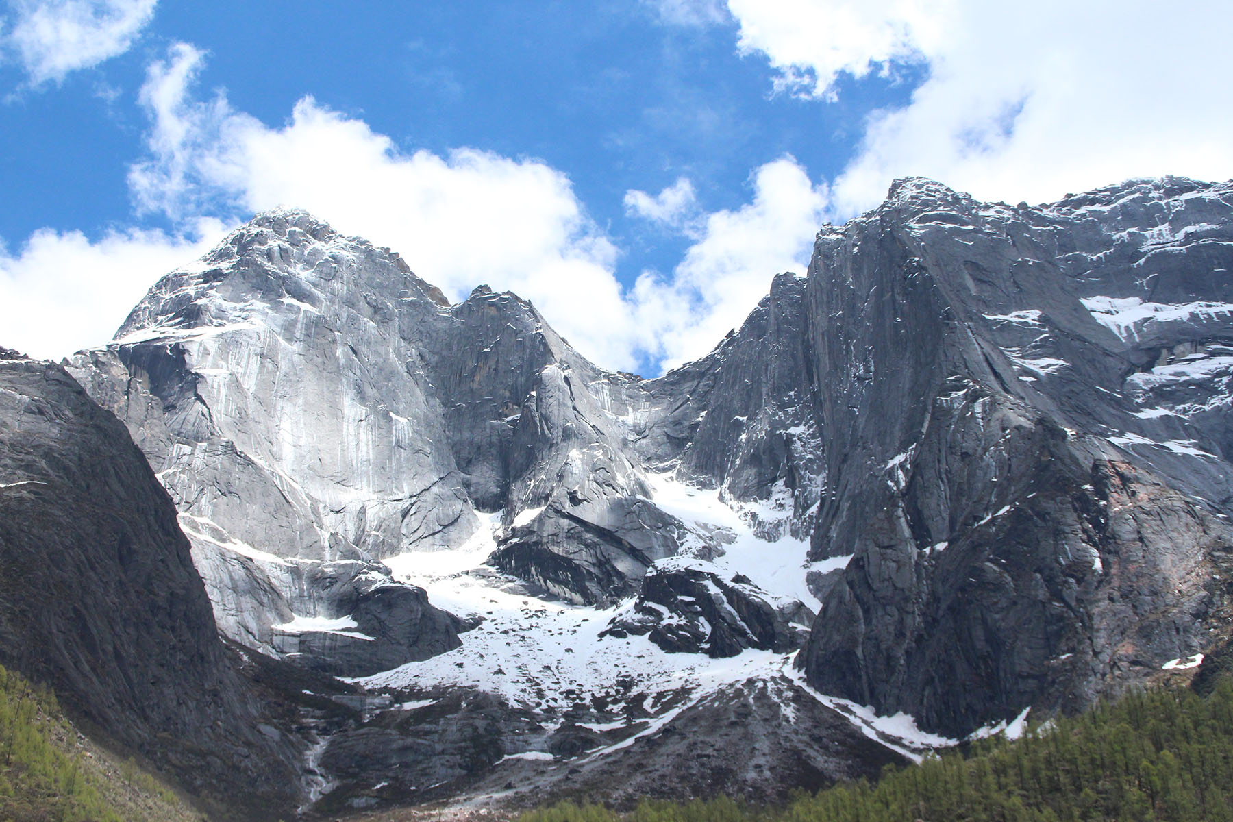
[[[102,344],[287,205],[655,373],[895,176],[1038,202],[1233,175],[1222,4],[990,5],[9,0],[0,344]]]

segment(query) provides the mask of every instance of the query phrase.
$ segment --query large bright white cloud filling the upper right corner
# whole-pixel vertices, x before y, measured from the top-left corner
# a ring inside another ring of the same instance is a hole
[[[835,180],[841,214],[926,175],[986,200],[1054,200],[1133,176],[1233,176],[1233,15],[1222,0],[943,4],[727,0],[740,48],[779,86],[922,60],[903,108],[874,115]]]

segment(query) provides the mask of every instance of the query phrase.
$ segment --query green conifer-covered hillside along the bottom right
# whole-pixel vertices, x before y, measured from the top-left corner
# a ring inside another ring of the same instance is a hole
[[[841,784],[787,807],[726,799],[644,802],[620,816],[602,806],[541,808],[519,822],[1233,822],[1233,679],[1211,693],[1141,691],[920,765],[888,768],[877,784]]]

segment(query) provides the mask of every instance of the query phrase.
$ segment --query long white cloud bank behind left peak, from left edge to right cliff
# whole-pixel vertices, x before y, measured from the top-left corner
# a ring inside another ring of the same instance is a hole
[[[454,299],[480,283],[531,299],[604,367],[653,368],[705,354],[774,274],[803,270],[826,203],[792,158],[757,169],[752,201],[731,211],[703,211],[683,177],[655,196],[630,191],[631,214],[693,245],[667,277],[645,272],[625,291],[618,249],[559,170],[466,148],[407,154],[312,97],[270,127],[222,94],[195,96],[202,60],[181,43],[149,67],[141,91],[149,157],[129,170],[139,210],[191,228],[96,243],[36,233],[20,253],[0,255],[0,344],[52,357],[97,345],[160,275],[217,242],[224,223],[286,205],[398,250]]]

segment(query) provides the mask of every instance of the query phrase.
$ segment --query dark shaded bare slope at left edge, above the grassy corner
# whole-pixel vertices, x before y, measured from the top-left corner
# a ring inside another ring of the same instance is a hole
[[[0,351],[0,661],[244,818],[298,797],[218,640],[175,508],[125,426],[55,365]]]

